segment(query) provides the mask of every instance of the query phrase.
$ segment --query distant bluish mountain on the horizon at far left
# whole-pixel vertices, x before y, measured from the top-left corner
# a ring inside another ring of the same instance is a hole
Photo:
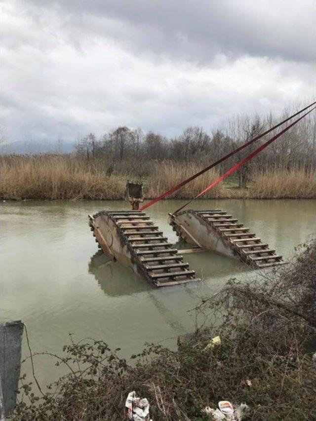
[[[75,143],[66,141],[37,142],[18,141],[0,145],[0,155],[16,153],[72,153],[75,152]]]

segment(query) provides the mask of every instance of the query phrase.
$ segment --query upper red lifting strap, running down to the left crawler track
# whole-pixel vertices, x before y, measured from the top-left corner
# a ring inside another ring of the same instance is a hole
[[[251,139],[250,141],[246,142],[245,144],[239,146],[237,149],[235,149],[234,151],[228,153],[227,155],[223,156],[222,158],[218,159],[216,162],[213,162],[211,165],[207,166],[206,168],[198,171],[196,174],[193,174],[192,176],[190,176],[189,178],[187,178],[186,180],[182,181],[181,183],[177,184],[176,186],[172,187],[170,190],[165,191],[164,193],[162,193],[160,196],[156,197],[155,199],[153,199],[152,201],[146,203],[144,206],[142,206],[141,208],[139,208],[139,211],[145,210],[147,209],[149,206],[152,206],[154,203],[158,202],[158,200],[163,199],[164,197],[169,196],[170,194],[174,193],[175,191],[177,191],[178,189],[180,189],[181,187],[185,186],[187,183],[189,183],[190,181],[194,180],[195,178],[197,178],[199,175],[203,174],[204,172],[210,170],[211,168],[214,168],[216,165],[220,164],[221,162],[225,161],[225,159],[230,158],[231,156],[235,155],[235,153],[241,151],[242,149],[246,148],[247,146],[251,145],[253,142],[255,142],[256,140],[261,139],[263,136],[265,136],[266,134],[270,133],[272,130],[275,130],[277,127],[279,127],[280,125],[286,123],[286,121],[290,120],[291,118],[295,117],[296,115],[302,113],[303,111],[307,110],[308,108],[312,107],[313,105],[316,104],[316,101],[313,102],[313,104],[310,104],[309,106],[303,108],[302,110],[298,111],[297,113],[291,115],[288,118],[285,118],[285,120],[281,121],[280,123],[276,124],[275,126],[271,127],[269,130],[266,130],[265,132],[261,133],[259,136],[256,136],[255,138]]]

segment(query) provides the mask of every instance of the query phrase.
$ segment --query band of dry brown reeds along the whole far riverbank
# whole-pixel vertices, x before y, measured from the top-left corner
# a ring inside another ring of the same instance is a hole
[[[196,163],[151,161],[130,164],[109,171],[98,160],[71,155],[9,155],[0,157],[0,197],[21,199],[122,199],[126,179],[141,178],[146,198],[153,198],[201,169]],[[110,175],[109,175],[110,174]],[[211,170],[192,181],[172,197],[191,198],[218,177]],[[315,198],[315,169],[272,169],[257,172],[248,189],[221,183],[204,197],[217,198]]]

